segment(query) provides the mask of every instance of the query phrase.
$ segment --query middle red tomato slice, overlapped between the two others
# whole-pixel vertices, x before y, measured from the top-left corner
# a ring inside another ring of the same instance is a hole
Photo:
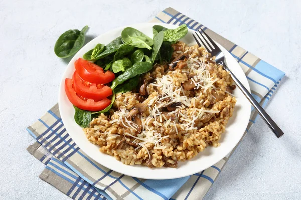
[[[75,92],[82,97],[99,101],[113,94],[113,90],[108,86],[103,84],[96,85],[83,80],[77,71],[74,72],[72,80]]]

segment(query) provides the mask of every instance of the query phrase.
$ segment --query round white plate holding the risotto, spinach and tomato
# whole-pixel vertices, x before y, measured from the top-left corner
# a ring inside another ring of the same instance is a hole
[[[141,23],[135,24],[128,27],[133,27],[144,34],[152,38],[152,26],[156,25],[155,23]],[[166,28],[177,28],[176,25],[171,24],[162,24],[158,23]],[[128,166],[122,164],[120,161],[117,161],[114,157],[106,155],[99,152],[99,146],[94,145],[88,141],[82,128],[77,125],[74,121],[74,108],[70,101],[68,100],[65,89],[64,81],[65,78],[71,78],[73,72],[75,71],[74,62],[79,57],[82,57],[85,52],[94,48],[98,43],[108,44],[113,39],[121,35],[121,31],[125,27],[121,27],[105,34],[102,34],[88,44],[86,44],[70,61],[66,71],[62,77],[61,85],[59,89],[59,109],[60,114],[65,125],[66,130],[69,135],[72,137],[74,142],[83,150],[89,157],[94,159],[99,164],[122,174],[145,179],[173,179],[188,176],[197,172],[200,172],[204,169],[209,168],[214,165],[221,159],[223,159],[231,150],[236,146],[236,144],[241,139],[249,118],[251,114],[251,105],[248,100],[243,96],[241,91],[237,88],[234,90],[234,95],[237,98],[237,103],[235,106],[235,111],[231,119],[229,120],[226,131],[223,133],[220,140],[221,146],[207,147],[203,152],[200,152],[196,157],[185,162],[179,162],[178,168],[153,168],[150,169],[145,166],[135,165]],[[188,31],[188,34],[181,41],[187,44],[195,44],[195,41],[192,37],[192,30]],[[250,91],[250,87],[247,81],[247,78],[242,71],[239,64],[236,60],[230,55],[230,53],[218,44],[221,50],[224,52],[228,67],[236,75],[237,78],[245,85],[245,87]]]

